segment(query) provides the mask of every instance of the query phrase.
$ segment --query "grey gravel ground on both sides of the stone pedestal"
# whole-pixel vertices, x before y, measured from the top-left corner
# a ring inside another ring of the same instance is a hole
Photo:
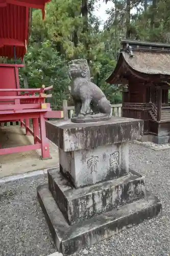
[[[145,175],[146,186],[162,200],[163,214],[74,253],[94,256],[170,256],[170,150],[155,152],[130,145],[130,166]],[[42,176],[2,185],[0,255],[40,256],[55,251],[36,199]]]

